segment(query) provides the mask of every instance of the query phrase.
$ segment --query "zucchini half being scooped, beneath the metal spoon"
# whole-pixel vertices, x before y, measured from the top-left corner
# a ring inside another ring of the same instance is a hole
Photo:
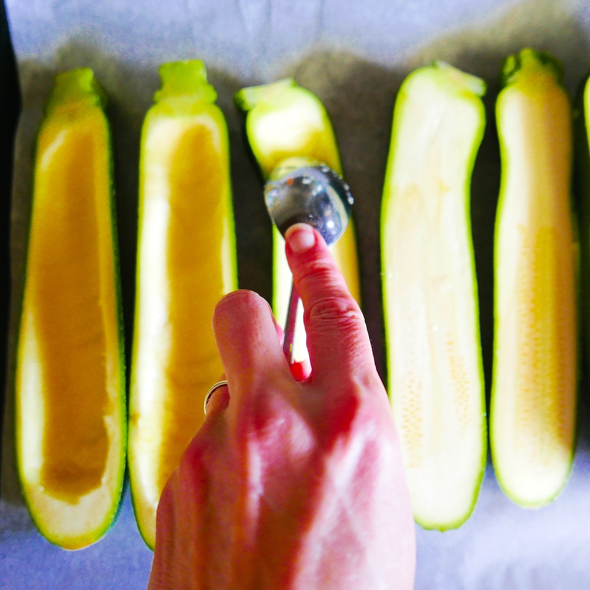
[[[293,78],[240,90],[235,95],[238,108],[247,112],[246,132],[264,179],[291,156],[326,163],[342,175],[342,164],[332,123],[323,104],[309,90],[297,86]],[[285,256],[285,242],[273,227],[273,312],[279,323],[287,317],[291,271]],[[350,293],[360,302],[355,228],[351,222],[332,253],[346,279]],[[307,358],[303,327],[303,306],[299,303],[293,345],[294,360]]]

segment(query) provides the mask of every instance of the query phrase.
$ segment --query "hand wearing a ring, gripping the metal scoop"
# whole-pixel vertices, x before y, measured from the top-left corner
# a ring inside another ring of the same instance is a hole
[[[286,241],[312,373],[291,375],[261,297],[219,301],[228,387],[162,493],[148,590],[413,587],[414,521],[362,313],[316,231]]]

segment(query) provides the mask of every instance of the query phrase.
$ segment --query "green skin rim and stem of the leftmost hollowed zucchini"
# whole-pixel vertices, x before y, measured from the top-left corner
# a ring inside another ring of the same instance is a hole
[[[118,427],[120,430],[120,445],[119,445],[119,461],[117,471],[114,476],[116,484],[112,488],[112,504],[108,512],[104,515],[101,526],[96,529],[89,531],[84,536],[84,541],[80,542],[76,540],[72,542],[71,539],[63,539],[60,536],[54,534],[54,532],[48,528],[41,514],[37,512],[34,504],[27,493],[27,487],[25,486],[24,477],[24,461],[22,457],[22,422],[27,419],[24,417],[22,408],[20,405],[21,400],[21,389],[19,386],[19,379],[15,379],[14,393],[15,393],[15,435],[16,435],[16,455],[17,455],[17,470],[19,474],[19,484],[21,487],[21,494],[30,512],[31,519],[37,529],[40,531],[50,543],[59,546],[64,549],[76,550],[82,549],[93,543],[99,541],[117,522],[119,514],[123,505],[123,489],[125,481],[126,471],[126,448],[127,448],[127,399],[126,399],[126,358],[125,358],[125,336],[124,336],[124,321],[123,321],[123,304],[122,304],[122,293],[121,293],[121,280],[120,280],[120,264],[119,264],[119,241],[117,238],[117,218],[116,218],[116,201],[114,194],[114,165],[113,165],[113,151],[112,151],[112,133],[110,130],[109,120],[104,112],[106,109],[107,97],[103,88],[100,86],[94,73],[90,68],[78,68],[77,70],[66,71],[61,74],[57,74],[54,79],[54,87],[51,94],[45,103],[44,117],[41,121],[37,138],[40,136],[42,129],[45,124],[51,120],[51,117],[61,107],[68,103],[87,104],[89,106],[98,107],[101,112],[104,127],[106,130],[106,150],[107,150],[107,166],[108,166],[108,195],[109,204],[108,212],[110,221],[110,232],[112,238],[112,260],[113,260],[113,286],[114,286],[114,317],[116,321],[116,336],[117,336],[117,375],[118,375],[118,395],[117,395],[117,412],[118,412]],[[38,139],[37,139],[38,142]],[[35,153],[37,153],[38,146],[35,147]],[[33,176],[32,186],[35,185],[35,173]],[[35,196],[32,195],[34,202]],[[31,232],[33,230],[33,215],[31,213],[28,219],[28,241],[27,250],[25,251],[25,268],[24,268],[24,293],[27,289],[27,271],[28,271],[28,258],[29,258],[29,244],[31,240]],[[22,363],[22,351],[20,348],[21,336],[22,336],[22,324],[24,318],[24,297],[20,302],[21,308],[19,309],[20,322],[16,337],[17,342],[17,354],[15,355],[15,375],[18,375],[19,367]]]

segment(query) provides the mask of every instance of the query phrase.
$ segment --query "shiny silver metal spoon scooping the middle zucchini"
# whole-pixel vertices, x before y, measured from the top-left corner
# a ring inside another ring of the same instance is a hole
[[[322,162],[310,158],[287,158],[274,168],[264,185],[268,214],[281,235],[296,223],[307,223],[320,232],[327,245],[345,232],[354,199],[348,184]],[[299,294],[291,283],[285,321],[283,352],[293,360],[293,339]]]

